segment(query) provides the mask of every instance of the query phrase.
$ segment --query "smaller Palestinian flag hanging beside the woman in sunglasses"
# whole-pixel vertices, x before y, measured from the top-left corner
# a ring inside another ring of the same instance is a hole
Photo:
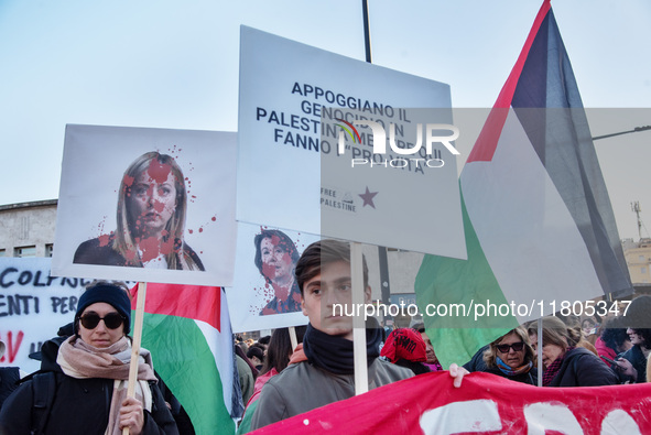
[[[220,287],[148,283],[142,347],[197,434],[235,433],[232,334]]]

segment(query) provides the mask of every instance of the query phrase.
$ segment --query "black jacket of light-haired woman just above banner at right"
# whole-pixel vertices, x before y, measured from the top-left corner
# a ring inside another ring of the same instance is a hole
[[[619,378],[595,354],[576,347],[565,354],[561,369],[549,387],[616,385]]]

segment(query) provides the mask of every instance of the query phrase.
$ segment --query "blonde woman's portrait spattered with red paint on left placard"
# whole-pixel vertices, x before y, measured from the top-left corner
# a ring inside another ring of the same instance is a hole
[[[144,153],[122,176],[116,231],[79,244],[73,262],[203,271],[183,240],[186,208],[185,181],[174,159]]]

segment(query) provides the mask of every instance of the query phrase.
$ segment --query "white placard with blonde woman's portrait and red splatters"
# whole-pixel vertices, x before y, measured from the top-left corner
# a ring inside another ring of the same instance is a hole
[[[67,126],[52,273],[230,285],[236,133]]]

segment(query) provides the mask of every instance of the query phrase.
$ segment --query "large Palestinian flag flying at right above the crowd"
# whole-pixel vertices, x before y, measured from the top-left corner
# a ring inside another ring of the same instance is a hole
[[[425,318],[445,366],[467,361],[518,324],[574,301],[632,291],[549,0],[459,183],[468,260],[426,255],[415,283],[421,312],[432,303],[469,311]]]

